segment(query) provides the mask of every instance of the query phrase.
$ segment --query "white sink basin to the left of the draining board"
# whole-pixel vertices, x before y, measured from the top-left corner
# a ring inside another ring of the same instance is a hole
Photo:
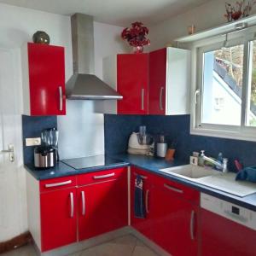
[[[189,178],[189,179],[221,174],[221,172],[218,172],[212,169],[207,169],[201,166],[193,166],[193,165],[160,169],[160,172],[166,172],[178,177]]]

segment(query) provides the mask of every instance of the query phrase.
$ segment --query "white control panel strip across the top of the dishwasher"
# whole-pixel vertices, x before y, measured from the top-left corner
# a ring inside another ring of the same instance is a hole
[[[256,230],[256,212],[252,210],[204,193],[201,193],[201,208]]]

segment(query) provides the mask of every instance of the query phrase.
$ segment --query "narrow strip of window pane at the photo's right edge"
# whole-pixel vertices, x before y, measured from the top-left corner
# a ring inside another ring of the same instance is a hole
[[[247,126],[256,126],[256,41],[250,43]]]

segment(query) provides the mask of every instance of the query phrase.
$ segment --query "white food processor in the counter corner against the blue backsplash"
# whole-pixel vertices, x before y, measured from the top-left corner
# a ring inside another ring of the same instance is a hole
[[[154,137],[146,133],[146,126],[140,126],[139,132],[131,133],[127,152],[129,154],[154,155]]]

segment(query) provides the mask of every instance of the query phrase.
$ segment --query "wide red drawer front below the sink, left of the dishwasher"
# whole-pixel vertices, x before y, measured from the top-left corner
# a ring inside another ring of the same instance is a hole
[[[196,205],[199,205],[200,203],[200,192],[189,188],[189,186],[174,182],[164,177],[157,177],[155,183],[162,186],[164,189],[168,189],[172,195],[183,197]]]

